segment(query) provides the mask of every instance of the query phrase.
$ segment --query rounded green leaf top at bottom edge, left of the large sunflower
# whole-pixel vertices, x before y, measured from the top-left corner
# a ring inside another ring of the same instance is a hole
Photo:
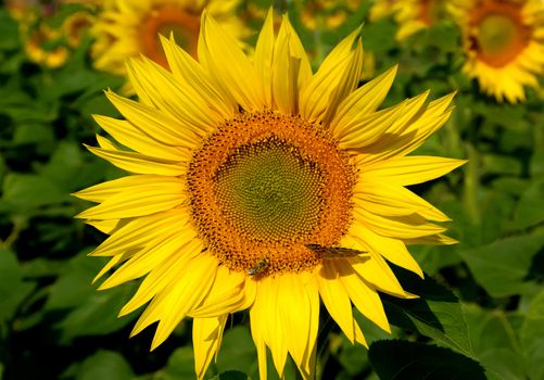
[[[77,371],[76,380],[130,380],[134,377],[132,368],[121,354],[99,351],[85,359]]]

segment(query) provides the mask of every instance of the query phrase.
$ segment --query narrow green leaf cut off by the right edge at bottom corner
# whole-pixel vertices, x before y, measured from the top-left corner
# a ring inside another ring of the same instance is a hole
[[[519,334],[529,378],[544,379],[544,290],[529,305]]]

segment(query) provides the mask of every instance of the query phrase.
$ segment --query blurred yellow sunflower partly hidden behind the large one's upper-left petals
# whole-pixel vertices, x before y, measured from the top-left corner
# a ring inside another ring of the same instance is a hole
[[[240,37],[244,29],[233,16],[239,0],[110,0],[93,27],[94,66],[125,75],[125,60],[143,54],[166,67],[159,34],[173,33],[178,43],[197,54],[200,17],[207,9],[222,27]]]

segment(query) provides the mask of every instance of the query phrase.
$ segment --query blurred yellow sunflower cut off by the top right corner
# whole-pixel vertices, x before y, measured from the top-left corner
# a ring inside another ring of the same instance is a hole
[[[499,102],[524,100],[544,73],[544,2],[464,1],[458,20],[467,61],[464,72]]]

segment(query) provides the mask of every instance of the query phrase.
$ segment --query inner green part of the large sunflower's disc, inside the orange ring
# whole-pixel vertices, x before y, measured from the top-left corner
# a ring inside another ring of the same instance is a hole
[[[287,241],[312,232],[322,207],[322,174],[277,139],[240,147],[217,173],[226,218],[248,239]]]

